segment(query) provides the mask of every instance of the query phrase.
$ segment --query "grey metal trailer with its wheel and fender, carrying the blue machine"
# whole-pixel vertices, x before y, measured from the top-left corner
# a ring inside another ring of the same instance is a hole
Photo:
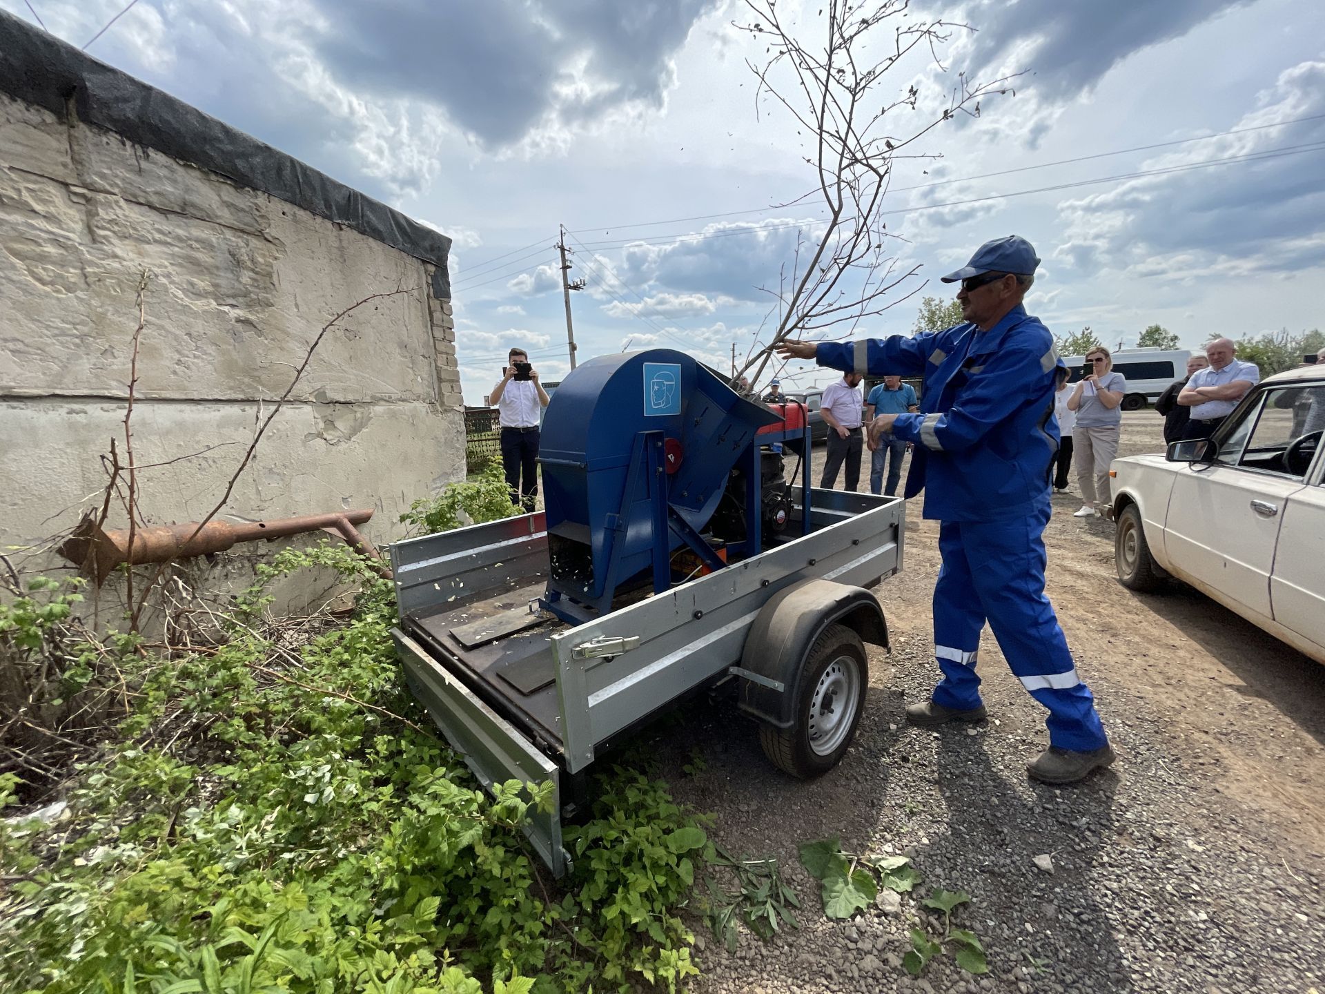
[[[851,745],[864,643],[888,645],[867,588],[901,567],[905,502],[806,488],[790,525],[758,555],[662,594],[623,592],[575,626],[539,610],[543,513],[391,546],[392,637],[413,693],[485,787],[554,785],[551,812],[527,831],[558,876],[562,820],[583,810],[595,755],[693,692],[731,681],[766,754],[794,775],[831,769]]]

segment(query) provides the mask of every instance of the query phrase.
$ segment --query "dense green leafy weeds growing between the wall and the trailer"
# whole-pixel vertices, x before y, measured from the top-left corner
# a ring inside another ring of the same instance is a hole
[[[359,584],[351,615],[268,618],[265,584],[311,566]],[[550,994],[697,971],[678,911],[701,820],[613,770],[558,892],[522,832],[551,785],[489,793],[437,740],[375,567],[337,545],[273,557],[227,641],[143,660],[58,820],[0,820],[0,989]],[[17,786],[0,777],[0,808]]]

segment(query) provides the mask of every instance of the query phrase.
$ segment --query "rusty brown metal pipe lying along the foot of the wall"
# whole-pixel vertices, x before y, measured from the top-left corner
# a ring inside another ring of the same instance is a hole
[[[364,555],[376,557],[378,550],[355,529],[355,525],[362,525],[371,517],[372,508],[362,508],[238,524],[208,521],[201,527],[196,521],[154,525],[134,529],[131,545],[127,529],[105,531],[91,517],[85,517],[73,535],[60,546],[60,554],[90,574],[98,584],[122,563],[170,562],[192,555],[211,555],[224,553],[236,542],[256,542],[260,538],[272,541],[319,529],[341,535],[351,549]]]

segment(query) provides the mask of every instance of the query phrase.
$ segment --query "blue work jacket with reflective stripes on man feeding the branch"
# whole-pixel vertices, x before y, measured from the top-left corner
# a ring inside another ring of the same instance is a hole
[[[988,331],[957,325],[913,338],[820,342],[820,366],[869,376],[924,376],[920,414],[893,436],[916,443],[906,496],[925,490],[925,517],[1006,521],[1049,500],[1059,448],[1053,335],[1018,305]]]

